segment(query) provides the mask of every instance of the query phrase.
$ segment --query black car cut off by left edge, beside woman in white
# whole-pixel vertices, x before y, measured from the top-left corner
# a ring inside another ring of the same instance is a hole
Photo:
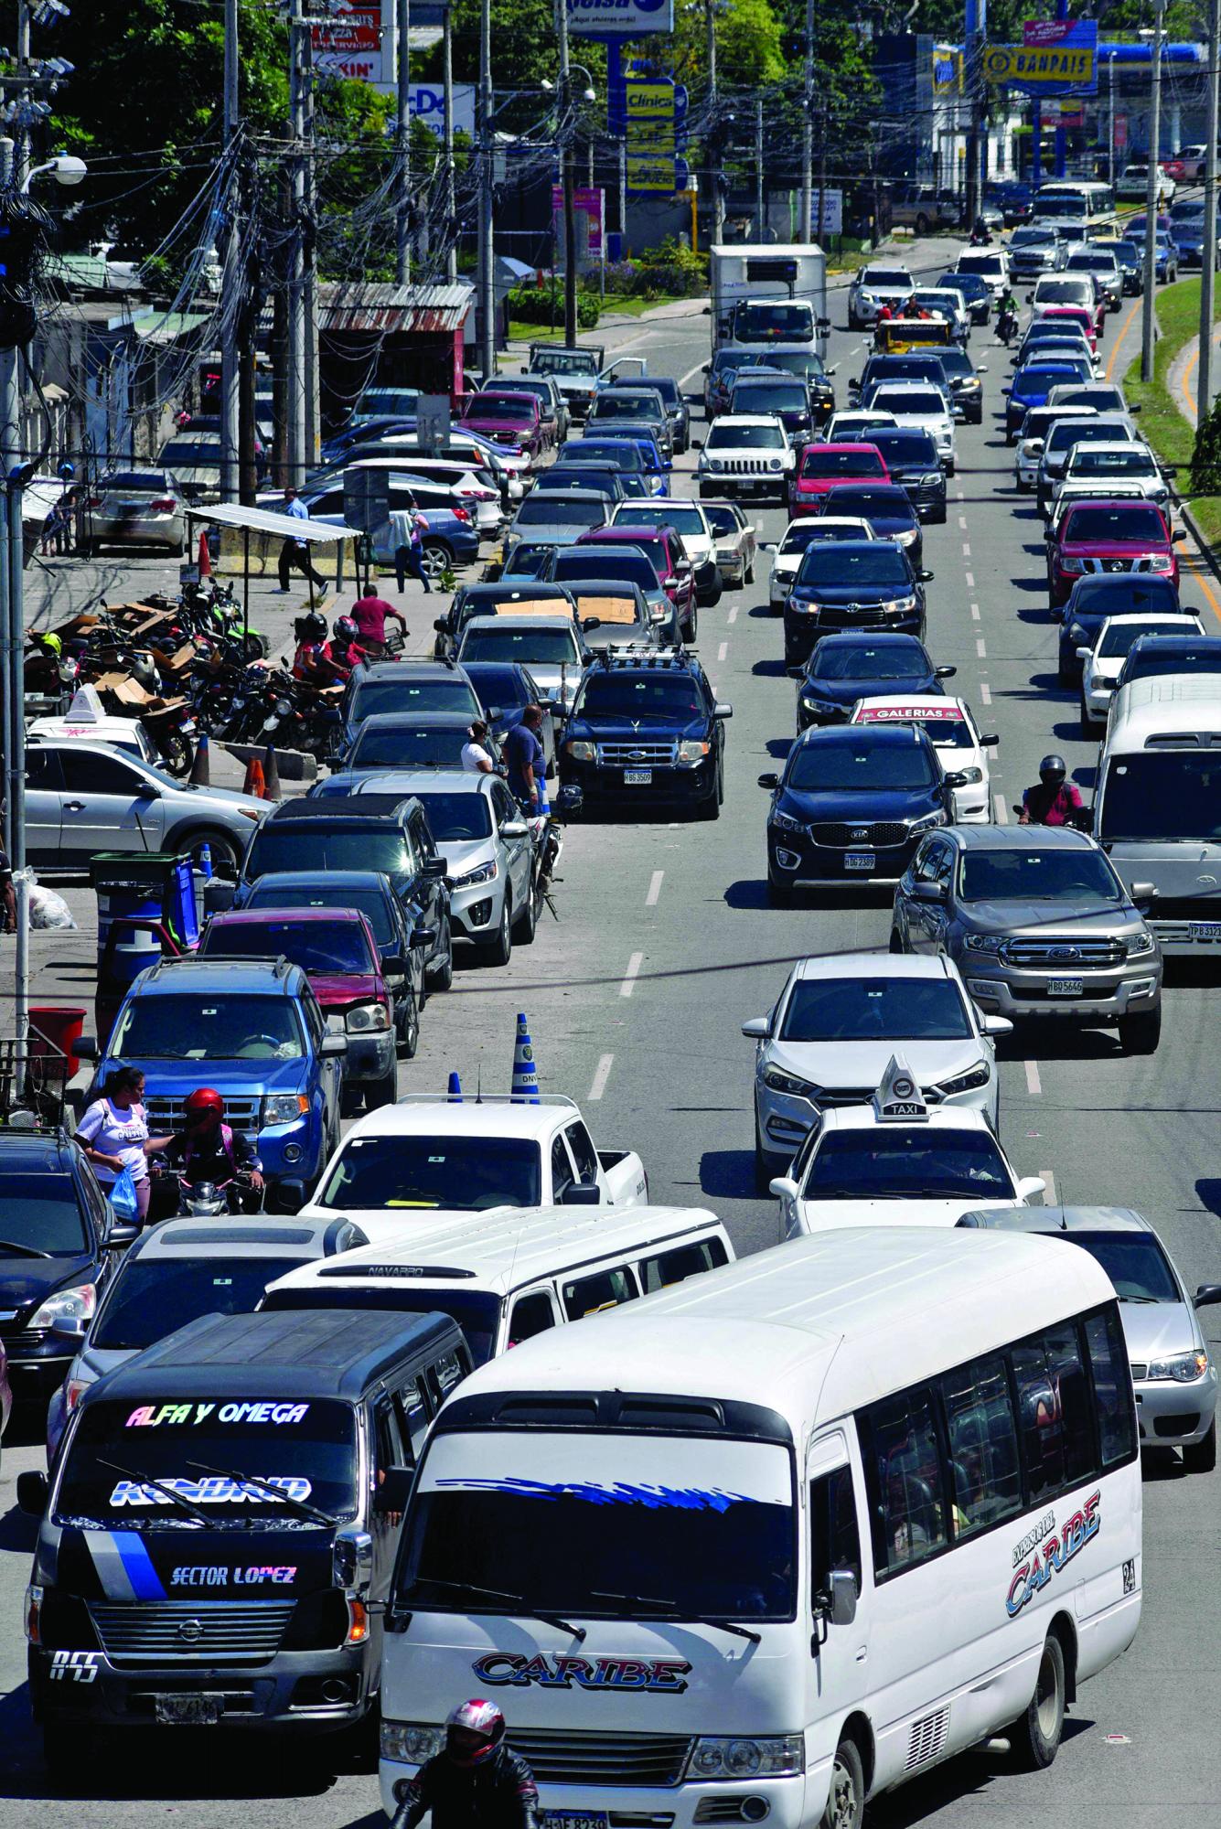
[[[0,1132],[0,1341],[13,1396],[48,1399],[126,1244],[80,1150],[60,1130]],[[73,1332],[75,1328],[75,1332]]]

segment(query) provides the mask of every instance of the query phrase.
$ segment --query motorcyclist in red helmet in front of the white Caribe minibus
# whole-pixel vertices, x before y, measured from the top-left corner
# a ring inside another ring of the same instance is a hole
[[[431,1811],[431,1829],[537,1829],[539,1787],[523,1758],[504,1745],[495,1703],[459,1703],[446,1721],[444,1750],[415,1778],[395,1785],[391,1829],[415,1829]]]

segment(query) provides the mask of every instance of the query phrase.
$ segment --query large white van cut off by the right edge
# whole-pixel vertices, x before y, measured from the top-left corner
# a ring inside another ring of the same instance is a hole
[[[1093,832],[1168,957],[1221,958],[1221,679],[1120,686],[1099,757]],[[1155,900],[1150,896],[1155,893]]]

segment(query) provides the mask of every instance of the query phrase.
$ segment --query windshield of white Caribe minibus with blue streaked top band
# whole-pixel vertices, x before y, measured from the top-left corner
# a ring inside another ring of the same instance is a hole
[[[791,1620],[797,1606],[791,1450],[770,1441],[437,1436],[404,1529],[402,1608]]]

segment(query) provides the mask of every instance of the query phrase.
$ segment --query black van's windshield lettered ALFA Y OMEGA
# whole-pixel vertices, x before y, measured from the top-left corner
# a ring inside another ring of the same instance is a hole
[[[186,1396],[181,1386],[157,1383],[144,1403],[128,1397],[84,1405],[51,1507],[57,1524],[208,1535],[208,1527],[247,1529],[254,1518],[274,1518],[283,1531],[316,1529],[292,1502],[327,1520],[355,1518],[351,1407],[260,1397],[252,1374],[241,1403],[205,1399],[203,1386]],[[157,1485],[146,1483],[154,1480]],[[177,1505],[172,1492],[185,1503]],[[203,1513],[207,1525],[192,1511]]]

